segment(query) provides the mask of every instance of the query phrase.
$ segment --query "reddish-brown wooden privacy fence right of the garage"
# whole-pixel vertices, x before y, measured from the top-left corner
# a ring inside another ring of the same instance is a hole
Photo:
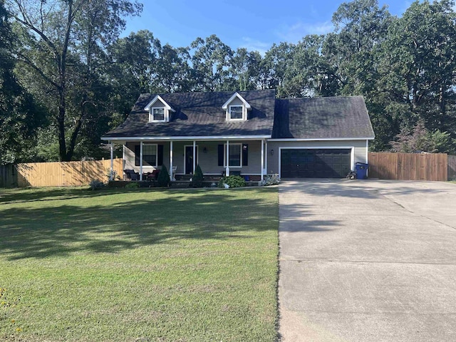
[[[448,180],[445,153],[371,152],[369,178],[380,180]]]

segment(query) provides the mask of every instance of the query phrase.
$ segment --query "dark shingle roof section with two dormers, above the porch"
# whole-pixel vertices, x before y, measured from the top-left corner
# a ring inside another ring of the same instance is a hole
[[[160,94],[174,110],[169,123],[149,123],[145,106],[156,94],[141,94],[127,120],[105,134],[106,138],[120,137],[196,137],[217,135],[271,135],[274,123],[275,90],[238,91],[252,106],[248,120],[225,121],[222,109],[234,91],[212,93]]]

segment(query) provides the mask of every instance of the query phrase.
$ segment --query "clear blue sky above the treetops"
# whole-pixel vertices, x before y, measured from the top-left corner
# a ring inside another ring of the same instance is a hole
[[[331,16],[346,1],[165,0],[142,1],[140,17],[129,19],[124,36],[147,29],[162,44],[189,46],[197,37],[216,34],[231,48],[261,53],[273,43],[297,43],[306,34],[333,30]],[[412,1],[379,0],[390,13],[400,16]]]

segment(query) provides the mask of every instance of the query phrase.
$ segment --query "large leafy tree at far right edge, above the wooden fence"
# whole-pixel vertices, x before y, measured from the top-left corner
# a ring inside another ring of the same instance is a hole
[[[401,105],[403,125],[422,118],[455,134],[456,15],[452,1],[415,1],[388,30],[381,48],[382,88]]]

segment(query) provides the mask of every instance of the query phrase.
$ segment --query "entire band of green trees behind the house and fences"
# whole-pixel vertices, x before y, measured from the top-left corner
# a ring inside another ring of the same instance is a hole
[[[264,55],[215,35],[184,47],[147,30],[120,37],[141,9],[133,0],[0,0],[0,162],[99,157],[100,136],[140,93],[272,88],[279,98],[363,95],[372,150],[397,150],[418,127],[430,152],[455,151],[452,1],[415,1],[400,17],[377,0],[346,2],[333,32]]]

